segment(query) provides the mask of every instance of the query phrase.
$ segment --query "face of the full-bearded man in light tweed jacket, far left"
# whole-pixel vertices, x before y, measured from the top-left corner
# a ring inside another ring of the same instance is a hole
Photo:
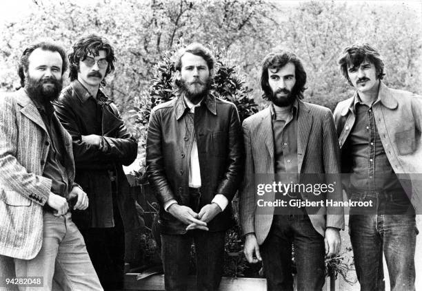
[[[28,58],[25,87],[41,103],[56,99],[62,88],[63,60],[59,52],[37,48]]]

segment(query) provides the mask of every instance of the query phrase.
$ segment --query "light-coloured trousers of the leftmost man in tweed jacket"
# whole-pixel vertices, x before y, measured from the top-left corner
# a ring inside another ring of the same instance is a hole
[[[17,277],[43,277],[43,288],[23,290],[52,290],[54,279],[61,289],[103,290],[77,226],[70,213],[55,217],[43,215],[43,245],[34,259],[14,259]]]

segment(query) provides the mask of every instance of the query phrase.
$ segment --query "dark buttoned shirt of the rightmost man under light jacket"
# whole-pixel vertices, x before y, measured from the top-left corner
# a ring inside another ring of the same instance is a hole
[[[350,186],[355,191],[397,191],[401,184],[385,154],[374,118],[374,107],[381,106],[378,97],[370,107],[354,98],[356,120],[350,131],[352,174]]]

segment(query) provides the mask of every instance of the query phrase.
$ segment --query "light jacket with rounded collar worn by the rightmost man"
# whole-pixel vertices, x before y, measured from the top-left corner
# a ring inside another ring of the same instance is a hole
[[[334,110],[341,155],[350,154],[348,137],[356,115],[354,98],[341,101]],[[381,82],[380,102],[373,106],[376,128],[385,154],[416,213],[422,213],[422,96],[388,88]],[[350,165],[342,164],[350,173]],[[347,191],[347,189],[346,189]]]

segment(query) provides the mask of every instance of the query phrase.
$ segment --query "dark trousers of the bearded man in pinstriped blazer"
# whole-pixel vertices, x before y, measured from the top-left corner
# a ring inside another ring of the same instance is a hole
[[[292,244],[297,268],[297,290],[322,290],[325,282],[324,238],[308,215],[274,215],[268,237],[261,246],[269,291],[293,291]]]

